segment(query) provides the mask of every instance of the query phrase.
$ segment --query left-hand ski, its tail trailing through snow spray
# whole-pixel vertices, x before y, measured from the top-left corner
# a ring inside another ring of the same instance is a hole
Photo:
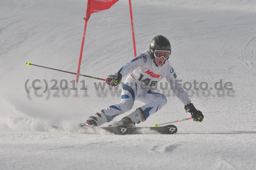
[[[113,133],[115,135],[128,134],[128,128],[124,125],[109,126],[109,127],[77,127],[77,126],[74,126],[72,129],[52,125],[52,128],[59,130],[61,132],[71,132],[71,133],[108,134],[108,133],[106,133],[106,131],[107,131],[107,132]]]

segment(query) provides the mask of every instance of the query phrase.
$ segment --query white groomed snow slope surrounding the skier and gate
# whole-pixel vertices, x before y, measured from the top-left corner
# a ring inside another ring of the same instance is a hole
[[[148,50],[155,35],[164,35],[178,78],[209,84],[207,90],[186,90],[204,121],[174,123],[175,135],[86,135],[50,127],[72,127],[120,100],[120,86],[96,90],[103,81],[80,77],[87,90],[80,89],[82,83],[68,90],[75,75],[25,64],[76,72],[86,5],[86,0],[0,0],[1,170],[256,169],[255,0],[132,1],[137,54]],[[128,0],[92,14],[80,73],[106,78],[133,57]],[[32,88],[36,79],[40,90]],[[53,79],[58,90],[50,90]],[[65,80],[68,89],[61,90]],[[220,80],[233,89],[210,90]],[[189,117],[170,89],[157,92],[168,104],[138,126]],[[131,111],[141,105],[136,102]]]

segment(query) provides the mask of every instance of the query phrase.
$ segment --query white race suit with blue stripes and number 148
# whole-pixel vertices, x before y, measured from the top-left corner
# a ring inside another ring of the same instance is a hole
[[[170,61],[166,60],[162,66],[156,66],[148,51],[126,63],[118,73],[122,74],[122,77],[129,75],[122,86],[121,102],[104,109],[108,122],[117,115],[129,111],[135,100],[145,103],[141,109],[146,118],[163,108],[167,103],[166,97],[153,91],[163,78],[167,79],[177,98],[185,105],[191,103],[189,96],[178,83]]]

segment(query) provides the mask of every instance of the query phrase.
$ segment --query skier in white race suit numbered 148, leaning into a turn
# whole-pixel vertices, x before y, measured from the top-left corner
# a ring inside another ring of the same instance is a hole
[[[80,126],[96,127],[110,122],[117,115],[128,112],[134,106],[134,101],[137,100],[145,103],[145,105],[112,124],[113,126],[126,125],[135,127],[135,124],[145,121],[150,115],[166,105],[166,97],[161,93],[152,91],[163,78],[167,79],[177,98],[185,104],[185,110],[191,113],[193,120],[203,121],[204,115],[202,112],[194,107],[184,89],[175,81],[177,80],[177,75],[170,61],[168,61],[170,54],[171,44],[169,40],[162,35],[155,36],[150,43],[149,51],[137,55],[136,58],[126,63],[118,72],[109,75],[106,79],[108,85],[116,86],[121,83],[123,76],[129,74],[122,86],[120,103],[102,109],[95,116],[90,116]]]

